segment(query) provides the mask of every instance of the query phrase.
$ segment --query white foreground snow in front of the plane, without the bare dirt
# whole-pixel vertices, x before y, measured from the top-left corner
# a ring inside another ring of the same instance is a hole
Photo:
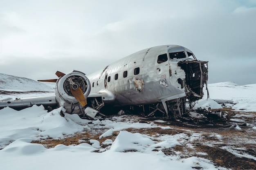
[[[216,166],[203,158],[189,157],[180,159],[177,156],[166,156],[159,148],[172,148],[180,145],[180,139],[185,134],[164,135],[154,138],[140,133],[131,133],[125,128],[159,127],[155,124],[121,122],[122,117],[111,120],[78,119],[77,115],[61,117],[62,108],[47,113],[42,106],[33,106],[16,111],[11,108],[0,110],[0,165],[4,170],[29,169],[177,169],[189,170],[191,167],[203,167],[205,170],[216,169]],[[117,121],[115,121],[115,119]],[[32,140],[47,137],[64,137],[83,130],[108,130],[102,134],[112,135],[111,131],[120,130],[113,142],[107,139],[105,143],[112,144],[109,150],[101,148],[99,141],[91,139],[91,144],[82,143],[76,146],[57,145],[45,148],[41,144],[30,143]],[[170,127],[161,127],[170,128]],[[195,135],[198,137],[198,135]],[[192,136],[193,138],[193,136]],[[155,152],[153,149],[158,148]],[[96,150],[104,151],[101,153]],[[134,150],[136,152],[126,152]],[[13,163],[15,162],[15,163]],[[221,167],[220,167],[221,168]],[[222,168],[225,169],[225,168]]]

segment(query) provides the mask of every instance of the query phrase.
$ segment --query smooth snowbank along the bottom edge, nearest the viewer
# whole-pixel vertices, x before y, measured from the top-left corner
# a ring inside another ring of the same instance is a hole
[[[5,170],[45,170],[45,169],[174,169],[192,170],[195,166],[214,170],[215,166],[207,159],[190,157],[182,160],[170,160],[161,153],[113,152],[111,150],[96,153],[89,144],[77,146],[58,145],[46,149],[40,144],[30,144],[28,138],[19,139],[1,152],[4,153],[1,165]],[[13,155],[15,154],[15,157]],[[13,163],[15,162],[15,163]],[[10,165],[11,167],[8,167]],[[176,167],[176,168],[175,168]]]

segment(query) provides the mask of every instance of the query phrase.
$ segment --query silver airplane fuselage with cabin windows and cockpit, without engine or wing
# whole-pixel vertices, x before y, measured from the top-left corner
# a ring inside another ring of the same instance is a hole
[[[193,53],[178,45],[156,46],[133,53],[88,75],[91,93],[107,94],[103,99],[105,104],[120,106],[155,104],[186,97],[185,82],[189,73],[178,63],[186,60],[206,63],[189,56]],[[202,81],[198,86],[203,86]]]

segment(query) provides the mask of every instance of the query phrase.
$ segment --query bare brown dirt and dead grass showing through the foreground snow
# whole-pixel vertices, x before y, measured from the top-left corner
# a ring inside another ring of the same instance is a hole
[[[232,170],[255,170],[256,169],[256,113],[239,113],[232,110],[225,111],[228,119],[218,120],[187,120],[168,119],[165,122],[157,122],[154,119],[143,119],[137,117],[140,123],[154,123],[159,126],[169,126],[171,129],[163,128],[128,128],[126,131],[141,133],[151,137],[163,135],[184,134],[186,138],[180,139],[181,145],[174,148],[155,148],[153,151],[162,150],[165,155],[178,155],[180,158],[202,157],[211,160],[214,165]],[[136,117],[136,116],[135,116]],[[109,118],[111,119],[111,118]],[[123,119],[126,121],[126,119]],[[44,139],[32,143],[43,144],[46,148],[52,148],[58,144],[77,145],[81,143],[90,144],[90,139],[100,142],[102,148],[108,149],[110,145],[102,144],[106,139],[114,141],[119,131],[113,132],[112,136],[103,137],[102,131],[91,134],[81,132],[63,139]],[[196,136],[196,137],[195,137]],[[135,152],[134,150],[130,152]],[[200,167],[193,167],[200,169]]]

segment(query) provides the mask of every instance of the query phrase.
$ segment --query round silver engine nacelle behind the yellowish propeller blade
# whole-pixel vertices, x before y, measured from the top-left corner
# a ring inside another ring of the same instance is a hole
[[[72,95],[71,86],[73,86],[73,88],[79,86],[83,95],[87,98],[91,91],[90,81],[84,73],[73,71],[60,77],[56,82],[55,95],[58,105],[63,106],[66,109],[66,113],[81,115],[82,107]]]

